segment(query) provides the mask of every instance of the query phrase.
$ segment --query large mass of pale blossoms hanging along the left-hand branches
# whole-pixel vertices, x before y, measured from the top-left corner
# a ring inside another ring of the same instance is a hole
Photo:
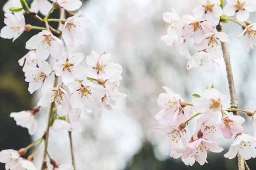
[[[32,94],[40,89],[41,98],[33,110],[10,114],[17,125],[28,129],[30,135],[36,132],[36,113],[40,107],[51,105],[51,116],[48,122],[50,127],[47,128],[50,130],[64,128],[71,132],[79,129],[82,115],[90,116],[95,110],[97,116],[100,117],[103,107],[111,110],[112,106],[116,104],[116,100],[126,96],[124,93],[118,92],[118,86],[122,79],[122,67],[110,62],[110,53],[104,52],[99,55],[97,52],[91,51],[84,57],[83,53],[68,54],[65,52],[64,44],[72,47],[75,42],[82,44],[85,42],[84,29],[90,26],[90,20],[80,16],[82,11],[67,19],[48,19],[52,10],[56,8],[61,7],[66,11],[74,11],[81,7],[82,2],[80,0],[51,1],[53,3],[48,0],[33,0],[31,8],[29,8],[25,0],[9,0],[3,7],[6,26],[0,31],[1,37],[13,38],[14,41],[24,31],[42,30],[26,42],[26,49],[29,51],[18,60],[19,65],[23,66],[25,81],[29,82],[28,91]],[[44,20],[42,19],[46,28],[25,24],[24,12],[38,18],[36,15],[38,11],[42,15],[46,15]],[[52,28],[48,23],[50,21],[57,21],[63,25],[62,40],[51,32]],[[49,56],[54,57],[56,62],[53,64],[47,62]],[[83,60],[86,60],[87,67],[81,64]],[[61,81],[58,81],[58,77]],[[33,155],[43,141],[47,143],[48,134],[49,131],[46,131],[42,138],[18,151],[2,150],[0,162],[5,163],[6,170],[36,170],[32,163]],[[28,159],[21,157],[36,144],[38,147]],[[51,158],[50,160],[54,170],[74,169],[71,165],[58,165]]]

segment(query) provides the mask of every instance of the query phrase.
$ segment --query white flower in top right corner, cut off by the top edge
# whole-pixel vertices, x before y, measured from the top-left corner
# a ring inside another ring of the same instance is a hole
[[[227,5],[223,8],[224,14],[233,16],[236,13],[238,21],[246,21],[249,18],[249,12],[256,11],[255,0],[227,0]]]

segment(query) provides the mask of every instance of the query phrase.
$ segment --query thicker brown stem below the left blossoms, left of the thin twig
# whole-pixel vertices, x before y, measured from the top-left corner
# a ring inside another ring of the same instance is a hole
[[[54,80],[54,87],[57,87],[58,85],[58,77],[55,75],[55,80]],[[48,116],[48,123],[47,123],[47,128],[45,132],[45,138],[44,138],[44,156],[43,156],[43,163],[41,166],[41,170],[47,169],[47,160],[46,160],[46,155],[47,155],[47,147],[48,147],[48,138],[49,138],[49,130],[50,130],[50,125],[51,125],[51,118],[52,118],[52,113],[53,113],[53,108],[54,108],[55,103],[51,103],[51,108]]]

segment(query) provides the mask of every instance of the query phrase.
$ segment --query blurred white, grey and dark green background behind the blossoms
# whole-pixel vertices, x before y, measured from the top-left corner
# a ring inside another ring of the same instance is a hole
[[[0,6],[7,0],[0,1]],[[29,2],[29,1],[28,1]],[[237,168],[237,159],[228,160],[230,140],[220,140],[225,148],[223,153],[208,153],[208,164],[195,163],[186,166],[179,158],[170,158],[170,149],[164,138],[156,133],[157,121],[154,115],[161,110],[157,97],[168,86],[182,98],[190,102],[192,94],[203,95],[205,88],[212,84],[229,97],[228,81],[224,60],[214,73],[197,67],[186,70],[187,59],[180,56],[173,47],[161,42],[161,35],[167,32],[168,24],[162,20],[162,13],[174,7],[179,15],[191,14],[196,0],[87,0],[83,1],[83,15],[91,20],[91,27],[85,30],[86,45],[76,44],[69,52],[83,52],[84,55],[95,50],[98,53],[110,52],[111,61],[123,66],[123,80],[120,92],[128,96],[117,102],[113,110],[104,110],[101,119],[95,114],[82,120],[81,130],[73,132],[74,153],[77,170],[216,170]],[[51,18],[57,18],[55,10]],[[250,20],[255,22],[255,14]],[[26,24],[41,26],[39,22],[25,16]],[[3,21],[4,13],[0,12]],[[55,23],[56,24],[56,23]],[[4,23],[0,22],[1,28]],[[57,25],[53,25],[56,26]],[[235,23],[223,25],[230,37],[228,50],[231,55],[234,81],[241,109],[256,110],[256,63],[255,50],[243,52],[237,35],[242,29]],[[10,112],[31,110],[39,100],[40,94],[30,95],[28,83],[24,81],[22,67],[18,59],[25,55],[25,42],[38,31],[23,33],[14,43],[0,39],[0,150],[18,150],[37,140],[44,134],[49,108],[37,114],[37,132],[32,137],[25,128],[15,125]],[[188,43],[193,55],[192,42]],[[84,63],[84,65],[86,65]],[[243,115],[242,115],[243,116]],[[244,131],[253,135],[251,118],[245,117]],[[188,133],[195,130],[195,121],[190,123]],[[71,164],[67,131],[52,131],[49,139],[49,153],[58,164]],[[35,163],[40,167],[43,146],[36,153]],[[247,161],[251,170],[256,169],[256,161]],[[4,165],[0,164],[0,169]]]

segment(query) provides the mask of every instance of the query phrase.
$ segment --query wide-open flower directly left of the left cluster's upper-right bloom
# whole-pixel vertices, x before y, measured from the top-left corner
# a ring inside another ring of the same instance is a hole
[[[84,54],[80,52],[69,56],[66,52],[62,53],[59,60],[53,65],[55,75],[61,76],[65,85],[69,82],[73,82],[75,77],[82,80],[85,79],[85,72],[87,70],[80,65],[83,59]]]

